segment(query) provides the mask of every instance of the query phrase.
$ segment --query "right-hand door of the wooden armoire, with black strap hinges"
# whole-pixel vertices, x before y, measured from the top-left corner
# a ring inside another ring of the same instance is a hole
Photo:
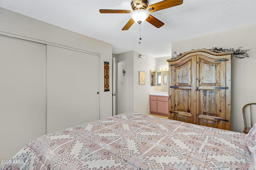
[[[197,56],[196,124],[226,129],[226,58]]]

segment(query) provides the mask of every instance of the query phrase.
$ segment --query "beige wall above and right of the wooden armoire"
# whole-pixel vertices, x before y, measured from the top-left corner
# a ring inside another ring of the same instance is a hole
[[[228,29],[172,43],[172,52],[185,53],[192,49],[211,47],[251,49],[249,57],[231,62],[231,130],[243,132],[242,107],[256,102],[256,24]],[[215,39],[215,40],[214,40]]]

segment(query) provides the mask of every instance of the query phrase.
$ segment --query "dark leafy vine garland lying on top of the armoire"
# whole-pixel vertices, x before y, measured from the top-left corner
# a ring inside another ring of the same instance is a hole
[[[237,49],[234,48],[230,48],[230,49],[223,49],[223,48],[217,48],[217,47],[212,47],[212,49],[206,49],[206,50],[210,50],[216,53],[221,53],[221,52],[228,52],[228,51],[233,51],[233,57],[237,57],[239,59],[243,59],[245,57],[249,57],[249,55],[247,54],[248,51],[250,51],[251,49],[245,49],[242,50],[242,47],[238,47]],[[177,55],[176,51],[174,52],[174,54]],[[176,57],[172,57],[171,59],[176,59],[178,57],[180,57],[182,54],[184,53],[180,53],[179,55],[177,55]]]

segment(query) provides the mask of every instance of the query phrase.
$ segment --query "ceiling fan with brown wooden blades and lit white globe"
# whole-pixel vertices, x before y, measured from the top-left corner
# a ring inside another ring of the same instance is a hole
[[[149,14],[149,12],[155,12],[158,10],[163,10],[173,6],[182,4],[183,0],[164,0],[156,4],[148,6],[148,0],[132,0],[131,6],[132,10],[100,10],[100,13],[119,13],[119,14],[130,14],[131,19],[126,23],[122,30],[128,30],[134,22],[141,24],[145,20],[160,28],[164,23]]]

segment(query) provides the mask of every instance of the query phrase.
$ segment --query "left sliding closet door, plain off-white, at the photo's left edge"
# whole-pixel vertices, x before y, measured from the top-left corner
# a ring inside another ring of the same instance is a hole
[[[46,45],[0,35],[0,160],[46,134]]]

